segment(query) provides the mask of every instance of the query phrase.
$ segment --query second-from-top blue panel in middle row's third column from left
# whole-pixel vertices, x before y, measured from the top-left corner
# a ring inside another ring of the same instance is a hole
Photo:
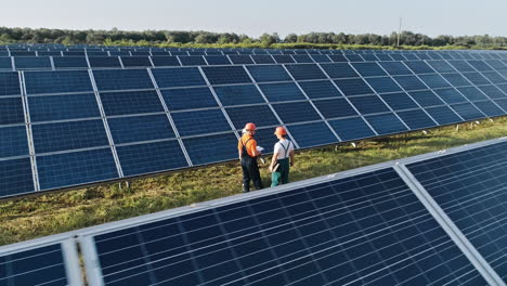
[[[156,91],[101,92],[107,116],[161,113],[164,107]]]

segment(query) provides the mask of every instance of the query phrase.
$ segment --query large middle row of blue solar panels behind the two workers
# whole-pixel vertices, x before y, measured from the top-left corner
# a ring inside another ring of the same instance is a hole
[[[269,51],[282,54],[0,73],[0,197],[231,160],[248,121],[269,153],[281,125],[303,148],[506,114],[507,60],[496,57],[507,53]],[[380,54],[390,61],[364,61]]]

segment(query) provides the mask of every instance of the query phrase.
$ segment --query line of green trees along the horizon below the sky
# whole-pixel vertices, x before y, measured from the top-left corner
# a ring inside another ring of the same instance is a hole
[[[400,38],[400,39],[398,39]],[[116,44],[116,46],[159,46],[159,47],[259,47],[259,48],[340,48],[356,47],[398,47],[461,49],[507,49],[507,37],[482,36],[437,36],[429,37],[412,31],[400,35],[344,32],[289,34],[285,38],[276,32],[263,34],[259,38],[234,32],[144,30],[65,30],[0,27],[0,44],[9,43],[63,43],[72,44]]]

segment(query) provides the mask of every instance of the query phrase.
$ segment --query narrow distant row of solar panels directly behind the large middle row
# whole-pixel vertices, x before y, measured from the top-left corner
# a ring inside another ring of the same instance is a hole
[[[422,56],[419,56],[422,57]],[[91,56],[91,57],[0,57],[0,70],[30,70],[30,69],[88,69],[88,68],[139,68],[139,67],[169,67],[169,66],[207,66],[207,65],[260,65],[260,64],[296,64],[296,63],[341,63],[341,62],[393,62],[407,63],[421,61],[414,55],[411,61],[404,55],[192,55],[192,56]],[[425,61],[442,61],[442,56],[422,58]],[[468,66],[484,67],[489,63],[503,68],[506,60],[453,60],[455,68]],[[466,61],[466,63],[463,63]],[[482,62],[485,61],[485,62]],[[468,64],[467,64],[468,63]],[[416,65],[414,64],[414,65]],[[467,67],[471,72],[473,67]],[[491,67],[489,67],[491,69]],[[460,72],[466,72],[458,69]]]

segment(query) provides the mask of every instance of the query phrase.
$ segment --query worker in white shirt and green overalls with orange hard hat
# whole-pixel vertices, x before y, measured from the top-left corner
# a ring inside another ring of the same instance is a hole
[[[273,151],[273,158],[270,164],[271,186],[280,183],[288,183],[290,166],[294,166],[294,143],[287,139],[287,130],[284,127],[277,127],[274,134],[278,139]]]

